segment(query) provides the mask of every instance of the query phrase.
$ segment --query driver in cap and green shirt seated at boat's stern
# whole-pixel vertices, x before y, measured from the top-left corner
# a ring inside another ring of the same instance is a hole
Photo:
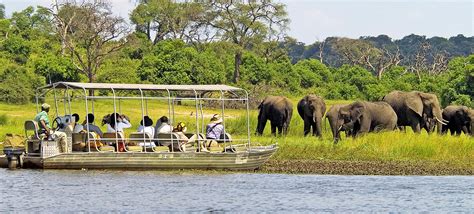
[[[38,133],[45,134],[48,139],[52,138],[56,142],[58,142],[60,152],[67,152],[66,133],[51,130],[51,125],[50,125],[49,117],[48,117],[50,107],[51,106],[49,104],[43,103],[41,105],[41,112],[38,113],[34,118],[34,121],[36,121],[39,126]]]

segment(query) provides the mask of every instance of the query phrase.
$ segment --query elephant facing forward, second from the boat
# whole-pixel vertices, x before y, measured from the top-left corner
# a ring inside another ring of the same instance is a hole
[[[322,118],[326,112],[326,103],[323,98],[308,95],[298,102],[298,114],[304,121],[304,136],[313,129],[313,136],[322,137]]]

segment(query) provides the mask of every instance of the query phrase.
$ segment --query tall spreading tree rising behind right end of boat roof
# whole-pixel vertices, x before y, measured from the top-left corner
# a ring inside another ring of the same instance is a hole
[[[240,78],[243,50],[283,31],[288,23],[285,5],[272,0],[209,1],[207,11],[218,38],[235,45],[234,82]]]

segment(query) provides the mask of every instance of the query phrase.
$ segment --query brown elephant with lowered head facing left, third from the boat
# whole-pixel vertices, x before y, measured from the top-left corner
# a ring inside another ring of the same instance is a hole
[[[385,102],[356,101],[339,108],[338,118],[344,120],[338,130],[351,130],[354,137],[397,128],[397,114]]]

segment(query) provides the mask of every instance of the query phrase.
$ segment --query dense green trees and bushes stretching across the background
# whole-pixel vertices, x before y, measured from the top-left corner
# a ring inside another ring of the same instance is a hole
[[[262,20],[254,24],[242,23],[242,26],[247,24],[255,30],[255,33],[246,32],[245,37],[238,37],[242,43],[233,40],[236,35],[222,34],[231,31],[231,28],[226,28],[229,24],[226,17],[208,20],[209,17],[202,16],[202,11],[218,10],[219,5],[200,7],[180,5],[184,3],[174,1],[159,2],[175,4],[165,6],[178,7],[177,10],[186,7],[181,16],[195,19],[176,23],[176,20],[182,20],[177,14],[148,17],[146,11],[163,10],[159,8],[163,4],[143,1],[131,13],[134,31],[119,39],[95,41],[103,48],[98,50],[99,60],[89,59],[95,66],[91,68],[95,70],[89,73],[85,71],[87,66],[81,66],[80,61],[94,49],[90,49],[87,43],[71,46],[74,39],[82,35],[76,33],[67,40],[68,37],[59,33],[58,24],[64,12],[54,14],[48,8],[29,7],[15,12],[11,18],[0,17],[0,101],[26,103],[33,100],[34,88],[40,85],[55,81],[92,80],[233,84],[248,89],[254,97],[315,93],[326,99],[351,100],[379,100],[392,90],[420,90],[438,94],[443,105],[456,103],[474,107],[473,37],[458,35],[445,39],[409,35],[395,41],[384,35],[355,40],[331,37],[306,46],[289,37],[278,40],[280,37],[275,35],[283,31],[275,32],[275,29],[264,27],[266,22]],[[252,10],[246,5],[238,6],[246,12]],[[74,10],[74,7],[68,10]],[[281,11],[282,8],[279,10],[274,15],[286,22],[286,12]],[[240,16],[242,19],[239,20],[248,18],[245,14]],[[206,26],[219,24],[219,29],[225,30],[208,31],[220,32],[210,40],[193,37],[199,34],[192,31],[193,26],[203,30],[207,29],[203,28],[206,23],[209,24]],[[76,27],[80,29],[79,25]],[[91,34],[94,32],[91,30]],[[158,37],[152,38],[152,35]],[[87,36],[90,35],[83,37]],[[67,48],[68,44],[72,48]],[[111,48],[114,51],[108,52]],[[102,55],[100,51],[104,50],[107,54],[104,52]],[[374,63],[370,61],[372,59],[377,61]],[[239,65],[238,79],[236,63]]]

